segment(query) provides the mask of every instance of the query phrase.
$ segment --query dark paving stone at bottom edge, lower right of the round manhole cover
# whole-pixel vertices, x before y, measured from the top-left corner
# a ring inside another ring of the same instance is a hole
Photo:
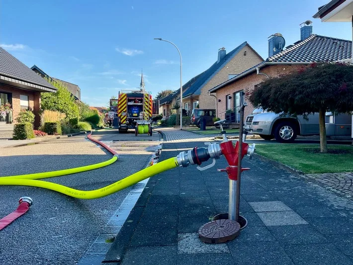
[[[228,247],[234,264],[241,265],[293,265],[277,242],[231,241]]]

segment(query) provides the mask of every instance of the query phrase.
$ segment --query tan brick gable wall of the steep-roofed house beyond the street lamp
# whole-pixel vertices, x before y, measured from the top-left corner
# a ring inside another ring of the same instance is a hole
[[[244,55],[244,52],[246,52],[246,55]],[[229,74],[240,74],[261,62],[262,59],[246,45],[201,89],[200,108],[215,109],[216,99],[208,94],[208,90],[227,81]]]

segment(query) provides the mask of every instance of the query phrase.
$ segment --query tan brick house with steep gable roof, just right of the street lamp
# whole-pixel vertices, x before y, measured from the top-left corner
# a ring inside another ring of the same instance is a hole
[[[208,91],[262,61],[264,59],[246,41],[229,53],[224,47],[219,49],[217,61],[183,85],[183,109],[188,113],[197,105],[199,108],[215,109],[216,99]],[[180,98],[178,90],[176,92],[172,104]]]

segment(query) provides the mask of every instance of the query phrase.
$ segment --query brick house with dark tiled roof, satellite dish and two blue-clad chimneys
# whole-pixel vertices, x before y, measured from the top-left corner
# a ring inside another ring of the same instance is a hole
[[[235,115],[238,116],[237,120],[239,121],[237,107],[240,105],[240,100],[244,100],[244,97],[246,100],[247,95],[266,78],[279,77],[292,71],[297,71],[299,68],[313,62],[338,61],[352,58],[352,41],[350,40],[312,34],[312,26],[309,23],[304,24],[300,28],[300,33],[301,39],[287,46],[284,50],[273,49],[273,42],[278,33],[272,35],[268,39],[269,57],[264,62],[210,89],[210,93],[216,93],[218,113],[229,109],[226,99],[231,96],[233,100],[228,101],[228,104],[231,105],[231,108],[235,108]],[[245,117],[250,115],[255,109],[249,101],[247,101],[247,104]],[[218,117],[221,119],[226,118],[225,115]]]

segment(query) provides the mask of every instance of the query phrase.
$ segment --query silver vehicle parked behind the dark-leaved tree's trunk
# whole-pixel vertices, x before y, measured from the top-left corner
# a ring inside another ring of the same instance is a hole
[[[326,113],[327,136],[351,135],[349,114],[333,115]],[[286,116],[255,109],[245,120],[245,128],[265,140],[275,138],[279,142],[292,142],[297,135],[319,135],[319,114],[315,113],[304,119],[303,116]]]

